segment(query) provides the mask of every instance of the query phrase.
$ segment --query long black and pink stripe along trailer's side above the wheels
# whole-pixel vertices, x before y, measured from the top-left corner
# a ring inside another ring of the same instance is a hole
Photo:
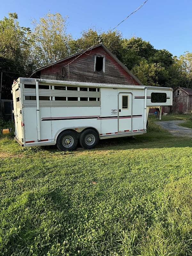
[[[132,116],[119,116],[119,119],[123,118],[136,118],[142,117],[143,115],[132,115]],[[62,116],[62,117],[42,117],[41,121],[56,121],[56,120],[76,120],[76,119],[117,119],[118,116]]]

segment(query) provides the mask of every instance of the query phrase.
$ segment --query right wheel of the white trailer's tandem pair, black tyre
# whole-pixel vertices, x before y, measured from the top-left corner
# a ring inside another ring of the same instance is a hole
[[[85,130],[81,133],[79,142],[81,146],[85,149],[94,148],[99,141],[99,136],[97,132],[92,129]]]

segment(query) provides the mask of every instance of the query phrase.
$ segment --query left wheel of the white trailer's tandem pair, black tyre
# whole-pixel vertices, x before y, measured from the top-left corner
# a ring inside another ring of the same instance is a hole
[[[57,138],[57,148],[61,151],[75,150],[77,147],[77,136],[75,132],[64,131],[61,132]]]

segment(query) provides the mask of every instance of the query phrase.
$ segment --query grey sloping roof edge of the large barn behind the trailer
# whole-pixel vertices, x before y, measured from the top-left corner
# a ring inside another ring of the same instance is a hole
[[[110,51],[108,50],[108,48],[107,48],[104,44],[102,44],[102,43],[101,43],[101,44],[97,44],[97,45],[93,46],[92,49],[94,49],[94,48],[96,48],[96,47],[99,47],[99,46],[101,46],[114,60],[116,60],[116,62],[117,62],[130,76],[132,76],[140,85],[143,85],[143,84],[140,82],[140,80],[139,80],[136,76],[134,76],[133,73],[132,73],[127,67],[125,67],[125,65],[124,65],[112,52],[110,52]],[[90,48],[88,48],[86,51],[90,51]],[[80,54],[82,54],[82,53],[84,53],[84,52],[86,52],[86,51],[77,52],[77,53],[75,53],[75,54],[73,54],[73,55],[70,55],[69,57],[66,57],[66,58],[57,60],[57,61],[55,61],[55,62],[52,62],[51,64],[48,64],[48,65],[43,66],[43,67],[41,67],[41,68],[38,68],[38,69],[36,69],[36,70],[33,72],[33,74],[32,74],[31,76],[35,75],[36,72],[38,72],[38,71],[40,71],[40,70],[42,70],[42,69],[44,69],[44,68],[51,67],[51,66],[53,66],[53,65],[55,65],[55,64],[57,64],[57,63],[60,63],[61,61],[68,60],[68,59],[70,59],[70,58],[76,57],[77,55],[80,55]],[[30,77],[31,77],[31,76],[30,76]]]

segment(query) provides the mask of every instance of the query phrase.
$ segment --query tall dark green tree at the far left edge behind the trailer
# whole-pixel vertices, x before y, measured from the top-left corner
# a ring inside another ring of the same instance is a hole
[[[18,15],[9,13],[0,20],[0,70],[3,71],[2,99],[11,99],[11,84],[19,76],[29,76],[36,68],[31,49],[30,28],[20,27]]]

